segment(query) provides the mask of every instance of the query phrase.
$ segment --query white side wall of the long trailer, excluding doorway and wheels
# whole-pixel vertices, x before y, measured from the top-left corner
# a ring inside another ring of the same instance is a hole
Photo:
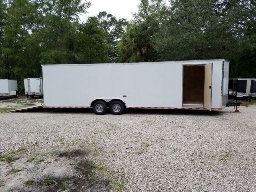
[[[208,63],[213,63],[212,108],[221,108],[223,60],[43,65],[44,105],[88,107],[95,99],[119,98],[126,107],[182,107],[183,65]]]

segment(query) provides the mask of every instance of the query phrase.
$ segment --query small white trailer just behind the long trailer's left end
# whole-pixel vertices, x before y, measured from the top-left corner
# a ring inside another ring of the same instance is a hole
[[[43,95],[43,80],[42,78],[26,78],[24,79],[25,95],[31,98]]]

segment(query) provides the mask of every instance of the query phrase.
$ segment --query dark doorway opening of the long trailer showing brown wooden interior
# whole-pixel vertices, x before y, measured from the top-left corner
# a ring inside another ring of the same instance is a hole
[[[183,104],[204,103],[205,67],[189,65],[183,67]]]

